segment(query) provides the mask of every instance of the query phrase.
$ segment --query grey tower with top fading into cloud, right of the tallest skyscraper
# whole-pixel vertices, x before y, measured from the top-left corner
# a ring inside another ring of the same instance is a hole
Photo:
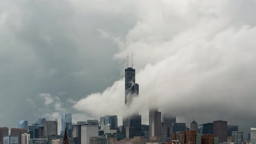
[[[161,136],[161,112],[158,109],[149,110],[149,137]]]

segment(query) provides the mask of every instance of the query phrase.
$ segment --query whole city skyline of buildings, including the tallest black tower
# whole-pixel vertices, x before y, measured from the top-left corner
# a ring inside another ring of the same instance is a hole
[[[129,107],[139,95],[135,82],[135,69],[125,69],[125,105]],[[158,108],[149,110],[149,124],[141,124],[141,115],[123,117],[118,126],[116,115],[105,115],[96,120],[72,123],[72,114],[62,114],[61,131],[58,135],[58,121],[40,118],[29,125],[19,121],[18,128],[0,128],[0,144],[256,144],[256,128],[251,128],[250,141],[244,140],[238,126],[227,121],[213,121],[198,125],[192,121],[176,121],[173,115],[161,114]]]

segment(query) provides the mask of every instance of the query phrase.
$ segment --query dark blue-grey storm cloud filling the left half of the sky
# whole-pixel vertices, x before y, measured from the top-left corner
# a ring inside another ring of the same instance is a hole
[[[0,3],[0,126],[75,113],[75,101],[120,78],[118,46],[97,29],[122,37],[133,24],[129,16],[84,12],[96,4],[89,2]]]

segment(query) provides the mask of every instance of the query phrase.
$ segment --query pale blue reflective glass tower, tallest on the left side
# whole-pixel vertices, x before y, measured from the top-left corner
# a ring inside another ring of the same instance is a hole
[[[61,117],[61,135],[64,136],[65,128],[67,128],[68,137],[72,137],[72,115],[62,114]]]

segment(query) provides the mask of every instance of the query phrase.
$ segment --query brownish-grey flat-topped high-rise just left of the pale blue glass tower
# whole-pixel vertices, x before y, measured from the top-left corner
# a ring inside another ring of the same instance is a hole
[[[58,121],[45,121],[44,124],[44,136],[57,135],[58,134]]]

